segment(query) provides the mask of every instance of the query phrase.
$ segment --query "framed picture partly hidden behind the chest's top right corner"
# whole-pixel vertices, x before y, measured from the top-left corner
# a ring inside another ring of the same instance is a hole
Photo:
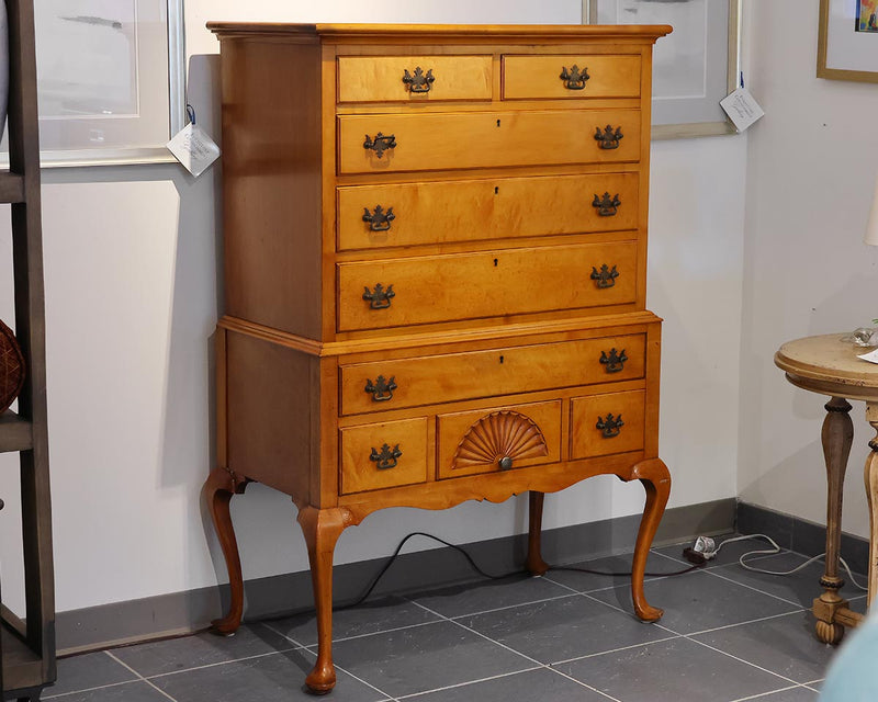
[[[653,50],[653,138],[734,134],[720,100],[738,88],[741,0],[583,0],[590,24],[669,24]]]

